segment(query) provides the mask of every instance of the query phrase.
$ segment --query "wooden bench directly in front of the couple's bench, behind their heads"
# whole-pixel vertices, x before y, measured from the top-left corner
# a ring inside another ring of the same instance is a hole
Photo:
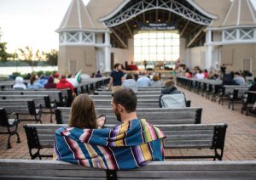
[[[146,119],[151,124],[200,124],[201,108],[164,109],[164,108],[137,108],[137,117]],[[70,108],[58,107],[55,109],[57,124],[67,124]],[[117,124],[112,108],[96,108],[96,115],[106,115],[108,124]]]

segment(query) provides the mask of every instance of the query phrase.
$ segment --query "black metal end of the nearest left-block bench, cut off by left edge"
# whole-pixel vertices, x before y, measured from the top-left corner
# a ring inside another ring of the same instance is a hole
[[[7,127],[7,131],[8,131],[8,132],[0,132],[0,134],[9,134],[7,149],[11,148],[10,138],[13,135],[17,135],[17,143],[20,143],[20,136],[19,136],[19,133],[17,132],[19,123],[20,123],[19,115],[17,113],[7,115],[6,111],[3,108],[0,108],[0,126]]]

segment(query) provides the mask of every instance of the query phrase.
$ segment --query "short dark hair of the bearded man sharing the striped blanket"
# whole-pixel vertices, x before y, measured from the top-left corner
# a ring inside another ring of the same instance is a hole
[[[127,113],[135,112],[137,108],[137,96],[129,88],[120,88],[112,95],[113,103],[122,105]]]

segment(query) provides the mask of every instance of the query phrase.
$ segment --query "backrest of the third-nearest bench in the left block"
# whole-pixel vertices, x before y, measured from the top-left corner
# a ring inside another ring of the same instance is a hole
[[[45,108],[50,108],[50,98],[48,95],[0,95],[0,99],[33,99],[35,104],[41,104]]]

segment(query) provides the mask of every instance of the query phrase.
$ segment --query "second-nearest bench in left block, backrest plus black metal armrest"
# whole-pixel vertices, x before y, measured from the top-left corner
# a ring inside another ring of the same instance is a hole
[[[36,122],[41,121],[42,106],[37,107],[33,99],[0,99],[0,107],[4,108],[10,115],[18,113],[19,115],[33,115]]]

